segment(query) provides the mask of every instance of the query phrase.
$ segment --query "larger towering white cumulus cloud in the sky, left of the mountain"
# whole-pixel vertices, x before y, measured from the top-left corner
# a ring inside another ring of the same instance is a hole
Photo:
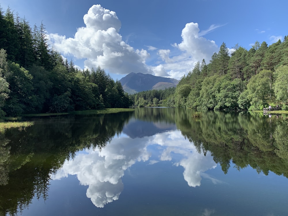
[[[145,65],[149,57],[146,50],[134,50],[122,41],[119,34],[121,22],[116,13],[101,5],[93,5],[84,15],[86,27],[77,29],[74,38],[50,34],[56,50],[78,59],[86,59],[85,67],[100,65],[112,73],[151,73]]]

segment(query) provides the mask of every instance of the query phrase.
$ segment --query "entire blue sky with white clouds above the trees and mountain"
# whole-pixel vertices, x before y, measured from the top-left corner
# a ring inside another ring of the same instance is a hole
[[[121,79],[134,73],[180,79],[224,42],[249,50],[288,35],[286,0],[1,0],[46,27],[51,48],[84,68]]]

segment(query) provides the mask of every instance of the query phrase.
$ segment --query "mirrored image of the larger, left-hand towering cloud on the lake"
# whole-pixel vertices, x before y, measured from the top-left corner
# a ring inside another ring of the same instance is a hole
[[[86,154],[79,154],[73,161],[65,162],[52,179],[77,175],[80,184],[89,185],[87,197],[95,206],[104,207],[119,198],[123,190],[121,177],[124,171],[137,161],[148,160],[147,141],[148,138],[115,138],[104,149],[86,150]]]

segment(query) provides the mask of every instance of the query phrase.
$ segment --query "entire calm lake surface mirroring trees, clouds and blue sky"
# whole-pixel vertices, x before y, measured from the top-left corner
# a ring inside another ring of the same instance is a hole
[[[0,134],[0,215],[288,215],[285,116],[139,108]]]

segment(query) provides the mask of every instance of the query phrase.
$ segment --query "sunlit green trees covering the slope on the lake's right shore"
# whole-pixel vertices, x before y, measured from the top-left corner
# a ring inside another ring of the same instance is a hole
[[[230,56],[223,42],[209,64],[196,62],[163,105],[244,111],[280,104],[287,109],[287,36],[270,46],[256,41],[250,50],[238,44],[233,48]]]

